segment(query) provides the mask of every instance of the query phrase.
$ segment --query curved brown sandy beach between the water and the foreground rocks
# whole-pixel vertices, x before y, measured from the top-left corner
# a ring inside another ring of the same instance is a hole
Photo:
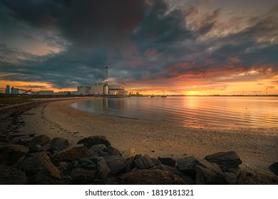
[[[175,122],[153,122],[91,114],[71,107],[92,98],[58,100],[38,104],[20,115],[19,132],[46,134],[68,139],[71,144],[87,136],[106,136],[120,151],[135,148],[136,154],[180,158],[204,158],[234,150],[243,163],[267,169],[278,161],[277,128],[231,128],[184,126]]]

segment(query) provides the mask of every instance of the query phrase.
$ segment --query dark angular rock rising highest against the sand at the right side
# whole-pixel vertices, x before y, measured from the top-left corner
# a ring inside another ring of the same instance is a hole
[[[242,163],[240,156],[235,151],[220,152],[206,156],[207,161],[217,163],[222,171],[236,172],[238,166]]]

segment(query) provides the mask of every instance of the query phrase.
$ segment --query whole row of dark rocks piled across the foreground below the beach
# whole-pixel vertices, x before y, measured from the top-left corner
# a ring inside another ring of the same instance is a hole
[[[153,158],[120,152],[104,136],[69,146],[58,137],[0,134],[0,184],[278,184],[277,164],[264,171],[235,151]]]

